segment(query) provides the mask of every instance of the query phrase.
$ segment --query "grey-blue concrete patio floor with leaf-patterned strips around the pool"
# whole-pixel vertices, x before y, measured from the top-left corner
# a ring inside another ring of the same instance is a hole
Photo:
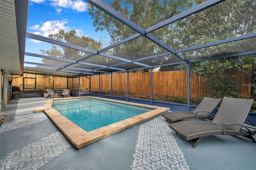
[[[77,150],[43,112],[33,113],[45,102],[43,97],[12,100],[0,113],[7,115],[0,127],[0,170],[256,169],[251,140],[208,136],[192,148],[162,116]]]

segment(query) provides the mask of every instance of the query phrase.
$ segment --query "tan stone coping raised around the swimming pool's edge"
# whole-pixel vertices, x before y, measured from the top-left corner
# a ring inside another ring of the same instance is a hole
[[[109,101],[114,103],[122,103],[130,106],[138,106],[143,107],[147,109],[152,109],[151,111],[148,111],[146,113],[142,113],[137,116],[130,117],[128,119],[124,119],[122,121],[118,121],[116,123],[106,125],[101,128],[97,128],[95,130],[86,131],[70,121],[68,118],[64,117],[62,114],[60,114],[58,111],[52,108],[52,103],[54,101],[68,101],[71,102],[73,100],[77,99],[98,99],[102,101]],[[170,108],[166,107],[158,107],[158,106],[152,106],[152,105],[143,105],[138,103],[131,103],[131,102],[125,102],[125,101],[117,101],[112,99],[104,99],[99,97],[69,97],[69,98],[58,98],[58,99],[48,99],[43,107],[35,108],[34,112],[44,112],[51,120],[52,122],[60,129],[60,131],[70,140],[70,142],[76,147],[81,148],[88,144],[91,144],[93,142],[96,142],[98,140],[101,140],[102,138],[106,138],[112,134],[115,134],[117,132],[120,132],[122,130],[125,130],[126,128],[132,127],[134,125],[137,125],[138,123],[142,123],[148,119],[151,119],[153,117],[156,117],[166,111],[168,111]]]

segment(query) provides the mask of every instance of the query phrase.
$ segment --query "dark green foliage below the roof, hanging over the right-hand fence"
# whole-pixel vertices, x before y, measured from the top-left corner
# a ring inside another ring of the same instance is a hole
[[[237,90],[242,85],[237,86],[237,81],[245,75],[254,73],[253,64],[256,63],[256,55],[242,55],[237,57],[228,57],[222,59],[214,59],[208,61],[200,61],[190,63],[190,71],[206,78],[205,81],[210,83],[212,96],[216,98],[235,97],[240,98],[241,95]],[[187,69],[187,64],[178,66],[181,69]],[[252,67],[252,69],[248,69]],[[234,71],[241,71],[240,75],[234,75]],[[255,73],[254,73],[255,74]],[[252,76],[252,81],[255,77]]]

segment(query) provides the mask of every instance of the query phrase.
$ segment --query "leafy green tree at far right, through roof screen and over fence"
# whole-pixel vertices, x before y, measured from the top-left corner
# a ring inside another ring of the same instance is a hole
[[[211,10],[204,10],[176,23],[179,33],[179,46],[193,47],[205,43],[226,40],[237,36],[256,32],[256,3],[254,0],[226,0]],[[183,29],[182,29],[183,28]],[[178,33],[177,33],[178,34]],[[220,55],[242,53],[255,50],[255,38],[215,45],[211,47],[181,53],[189,60],[215,57]],[[206,77],[217,97],[239,97],[236,79],[230,77],[231,70],[240,70],[245,74],[252,67],[251,96],[255,98],[255,63],[256,55],[246,55],[190,63],[190,71]],[[186,69],[186,65],[180,65]]]

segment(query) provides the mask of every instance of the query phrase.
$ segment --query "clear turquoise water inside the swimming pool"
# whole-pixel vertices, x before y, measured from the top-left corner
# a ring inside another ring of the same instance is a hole
[[[54,101],[52,108],[87,132],[153,110],[90,98]]]

